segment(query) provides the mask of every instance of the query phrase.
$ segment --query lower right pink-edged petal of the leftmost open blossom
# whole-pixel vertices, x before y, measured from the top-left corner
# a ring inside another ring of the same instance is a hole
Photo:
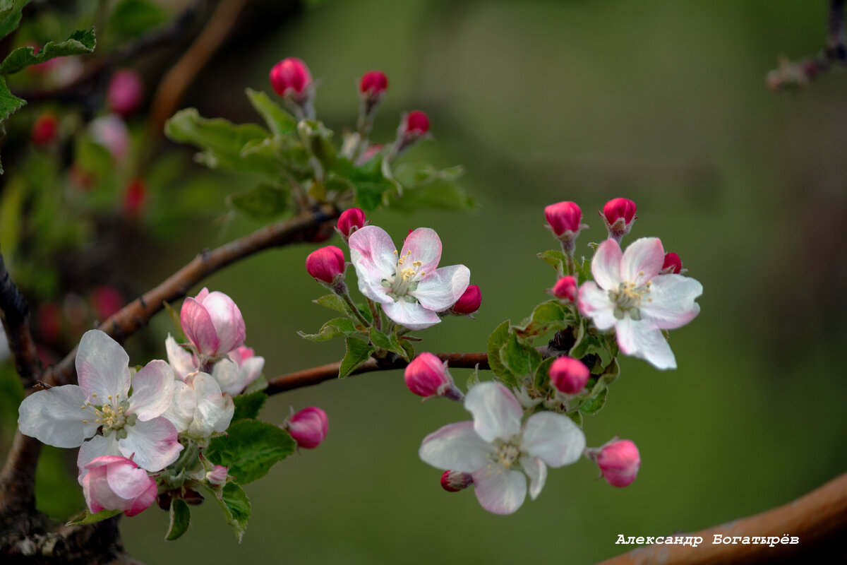
[[[147,471],[161,471],[180,456],[182,445],[176,440],[176,428],[167,418],[139,420],[126,426],[126,437],[118,440],[120,454]]]

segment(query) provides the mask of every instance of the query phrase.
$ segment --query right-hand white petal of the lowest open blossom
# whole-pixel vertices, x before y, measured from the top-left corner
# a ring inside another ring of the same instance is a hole
[[[562,414],[533,414],[523,426],[521,451],[538,457],[552,468],[575,463],[585,449],[585,434]]]

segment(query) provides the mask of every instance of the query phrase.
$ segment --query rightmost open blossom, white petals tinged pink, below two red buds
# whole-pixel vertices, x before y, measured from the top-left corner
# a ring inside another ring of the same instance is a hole
[[[579,311],[598,330],[614,328],[617,345],[660,369],[676,368],[662,330],[688,324],[700,312],[695,298],[703,286],[681,274],[660,274],[665,258],[662,241],[641,238],[621,252],[608,239],[597,247],[590,280],[579,288]]]

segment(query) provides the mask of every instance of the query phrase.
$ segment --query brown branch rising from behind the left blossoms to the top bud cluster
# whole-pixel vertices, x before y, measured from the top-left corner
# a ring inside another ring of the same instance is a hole
[[[338,215],[339,210],[335,206],[323,204],[292,219],[266,225],[261,230],[230,241],[212,251],[201,252],[191,263],[103,321],[100,329],[115,340],[124,341],[147,324],[153,314],[162,310],[164,302],[172,302],[185,296],[192,286],[208,275],[268,247],[313,241],[320,227],[338,218]],[[76,350],[70,352],[58,365],[47,369],[42,380],[53,386],[72,383],[76,374],[75,359]]]

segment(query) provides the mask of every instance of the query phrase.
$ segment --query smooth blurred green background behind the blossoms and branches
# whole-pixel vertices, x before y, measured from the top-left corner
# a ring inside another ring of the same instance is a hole
[[[240,546],[213,504],[192,508],[188,534],[168,543],[167,514],[152,508],[122,523],[130,555],[594,562],[630,549],[615,545],[618,534],[727,522],[844,472],[847,76],[831,72],[794,94],[764,84],[779,54],[821,48],[825,19],[822,1],[336,0],[280,17],[250,53],[224,50],[185,106],[257,121],[244,87],[269,91],[270,66],[297,56],[322,80],[318,118],[340,131],[355,123],[357,77],[381,69],[390,90],[375,137],[391,139],[401,110],[424,109],[435,141],[408,159],[466,166],[478,214],[372,217],[396,241],[408,228],[438,230],[442,264],[468,265],[482,288],[475,321],[424,330],[418,351],[484,351],[496,324],[545,299],[553,271],[535,253],[555,246],[542,227],[552,202],[583,208],[591,228],[578,249],[587,254],[605,237],[595,210],[633,199],[639,220],[628,241],[662,237],[705,292],[700,316],[671,334],[678,370],[623,359],[605,409],[586,419],[590,446],[613,435],[639,446],[639,478],[626,489],[595,480],[583,460],[551,470],[539,499],[511,517],[490,515],[473,492],[441,490],[440,471],[417,455],[425,435],[468,413],[421,405],[401,371],[365,374],[269,400],[263,419],[272,422],[289,407],[323,407],[329,436],[246,487],[253,513]],[[225,237],[258,225],[236,221]],[[208,225],[139,256],[139,286],[219,237]],[[303,269],[314,247],[263,252],[208,280],[241,307],[268,377],[343,355],[340,341],[296,335],[329,318],[310,302],[324,291]],[[164,318],[147,339],[163,341]],[[462,385],[467,374],[453,371]]]

